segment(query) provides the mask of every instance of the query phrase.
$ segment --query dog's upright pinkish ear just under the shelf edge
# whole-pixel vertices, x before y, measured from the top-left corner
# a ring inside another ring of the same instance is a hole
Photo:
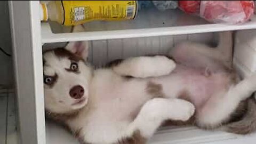
[[[89,53],[89,43],[87,41],[69,42],[65,49],[86,60]]]

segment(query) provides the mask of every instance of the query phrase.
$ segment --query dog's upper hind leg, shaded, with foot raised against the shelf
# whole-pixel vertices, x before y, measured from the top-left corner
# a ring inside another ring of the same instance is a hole
[[[225,66],[231,68],[232,43],[231,31],[225,31],[219,33],[219,45],[217,47],[184,42],[171,49],[170,56],[177,62],[194,67],[216,69]]]

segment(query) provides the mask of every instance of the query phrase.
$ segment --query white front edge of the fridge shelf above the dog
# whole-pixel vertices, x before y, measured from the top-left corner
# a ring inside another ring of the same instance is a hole
[[[210,33],[216,31],[256,29],[255,17],[252,21],[244,25],[224,25],[220,23],[210,23],[205,25],[155,27],[142,29],[122,29],[122,30],[102,30],[87,31],[82,33],[62,33],[54,34],[48,23],[42,23],[42,43],[86,41],[99,39],[117,39],[149,36],[182,35],[195,33]]]

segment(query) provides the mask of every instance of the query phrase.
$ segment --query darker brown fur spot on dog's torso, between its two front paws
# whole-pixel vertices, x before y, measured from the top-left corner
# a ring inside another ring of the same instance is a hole
[[[150,95],[153,95],[154,98],[163,98],[164,97],[163,87],[161,84],[148,82],[146,91]]]

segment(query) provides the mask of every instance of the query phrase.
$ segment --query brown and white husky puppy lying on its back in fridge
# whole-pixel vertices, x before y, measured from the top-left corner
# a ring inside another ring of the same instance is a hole
[[[46,116],[67,126],[81,143],[146,143],[167,120],[213,129],[254,107],[228,127],[251,132],[255,101],[249,98],[256,74],[238,78],[230,67],[231,44],[231,33],[225,32],[215,48],[197,43],[174,47],[169,56],[175,62],[158,55],[101,69],[87,63],[87,42],[44,52]]]

